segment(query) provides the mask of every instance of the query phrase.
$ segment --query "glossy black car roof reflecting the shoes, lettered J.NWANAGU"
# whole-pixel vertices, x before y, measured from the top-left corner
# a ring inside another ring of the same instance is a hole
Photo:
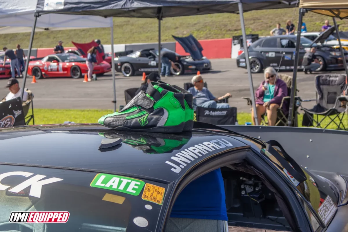
[[[103,139],[108,143],[115,138],[121,138],[122,143],[99,149]],[[210,148],[214,146],[210,151],[209,144]],[[154,134],[116,131],[97,124],[23,126],[0,129],[0,164],[129,174],[175,182],[202,159],[250,145],[241,136],[206,129]],[[196,152],[197,158],[186,159],[185,151]]]

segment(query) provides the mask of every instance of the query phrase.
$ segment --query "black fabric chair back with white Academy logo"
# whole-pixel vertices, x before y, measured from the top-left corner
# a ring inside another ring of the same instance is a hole
[[[226,109],[197,107],[196,117],[199,122],[211,123],[214,125],[235,125],[237,121],[237,108]]]

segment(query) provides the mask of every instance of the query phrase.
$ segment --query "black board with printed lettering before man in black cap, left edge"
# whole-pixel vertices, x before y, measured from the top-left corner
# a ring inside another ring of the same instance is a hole
[[[20,97],[0,103],[0,128],[25,125]]]

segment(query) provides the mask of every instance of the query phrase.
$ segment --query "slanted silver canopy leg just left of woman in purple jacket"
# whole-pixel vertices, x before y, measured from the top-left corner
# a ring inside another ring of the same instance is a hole
[[[238,9],[239,9],[239,17],[240,17],[240,25],[242,26],[242,35],[243,35],[243,45],[244,45],[244,54],[245,54],[245,63],[246,63],[246,69],[248,70],[248,79],[250,84],[250,94],[252,99],[252,105],[254,110],[254,119],[255,119],[255,125],[258,126],[258,115],[256,112],[256,104],[255,104],[255,93],[254,93],[254,85],[253,85],[253,78],[251,76],[251,69],[250,69],[250,62],[249,62],[249,52],[248,52],[248,46],[246,41],[246,33],[245,33],[245,25],[244,25],[244,16],[243,16],[243,3],[238,3]]]

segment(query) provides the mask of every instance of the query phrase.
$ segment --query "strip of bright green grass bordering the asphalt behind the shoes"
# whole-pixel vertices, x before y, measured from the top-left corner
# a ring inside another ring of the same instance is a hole
[[[28,113],[30,115],[31,112]],[[71,121],[75,123],[97,123],[98,119],[105,114],[112,113],[111,110],[51,110],[51,109],[34,109],[35,124],[56,124]],[[299,115],[299,126],[302,124],[303,115]],[[238,113],[239,125],[244,125],[245,122],[251,122],[250,113]],[[337,120],[336,120],[337,121]],[[344,125],[347,127],[347,114],[344,117]],[[324,121],[329,122],[328,120]],[[337,121],[338,122],[338,121]],[[32,124],[32,123],[31,123]],[[331,124],[328,129],[335,129],[335,124]]]

